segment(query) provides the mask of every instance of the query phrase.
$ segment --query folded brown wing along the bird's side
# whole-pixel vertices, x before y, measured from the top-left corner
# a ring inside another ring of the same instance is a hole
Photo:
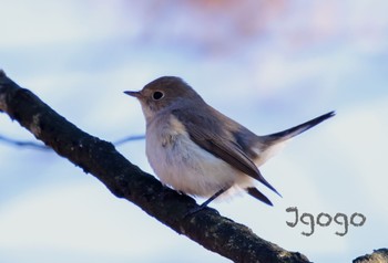
[[[201,148],[229,164],[235,169],[258,180],[279,194],[276,189],[264,179],[255,164],[242,150],[241,146],[232,140],[234,136],[229,136],[231,139],[228,139],[224,130],[217,130],[216,125],[219,125],[217,119],[211,119],[208,116],[201,116],[198,113],[188,115],[187,112],[177,109],[173,111],[173,114],[177,119],[184,122],[187,134]]]

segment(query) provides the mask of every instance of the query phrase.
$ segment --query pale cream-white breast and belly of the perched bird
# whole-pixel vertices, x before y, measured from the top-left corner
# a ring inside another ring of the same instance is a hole
[[[188,194],[210,197],[222,188],[253,185],[251,177],[197,146],[186,133],[147,134],[146,155],[163,183]]]

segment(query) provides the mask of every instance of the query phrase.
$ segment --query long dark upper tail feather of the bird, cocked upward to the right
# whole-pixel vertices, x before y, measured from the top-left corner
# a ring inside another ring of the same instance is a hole
[[[334,115],[336,115],[335,112],[329,112],[327,114],[324,114],[319,117],[313,118],[312,120],[308,120],[304,124],[300,124],[298,126],[295,126],[293,128],[276,133],[276,134],[270,134],[270,135],[266,135],[263,136],[265,139],[267,139],[268,141],[282,141],[282,140],[286,140],[289,138],[293,138],[294,136],[302,134],[303,132],[313,128],[314,126],[316,126],[317,124],[320,124],[321,122],[333,117]]]

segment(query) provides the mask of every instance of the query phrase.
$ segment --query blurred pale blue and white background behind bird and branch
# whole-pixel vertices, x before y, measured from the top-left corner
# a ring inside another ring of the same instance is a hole
[[[212,203],[314,262],[387,246],[388,2],[1,0],[0,69],[70,122],[115,141],[144,134],[141,90],[177,75],[259,135],[335,109],[261,170],[283,198]],[[33,136],[0,115],[0,135]],[[152,172],[144,141],[118,146]],[[176,234],[52,151],[0,141],[0,262],[229,262]],[[263,188],[262,188],[263,189]],[[198,199],[198,202],[203,200]],[[294,221],[364,214],[363,227]]]

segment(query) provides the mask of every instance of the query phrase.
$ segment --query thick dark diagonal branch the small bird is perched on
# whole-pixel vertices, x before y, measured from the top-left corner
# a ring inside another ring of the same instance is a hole
[[[93,175],[118,198],[124,198],[151,217],[234,262],[309,262],[265,241],[247,227],[211,208],[184,218],[195,200],[162,186],[126,160],[111,143],[91,136],[60,116],[38,96],[20,87],[0,70],[0,112],[4,112],[37,139]]]

